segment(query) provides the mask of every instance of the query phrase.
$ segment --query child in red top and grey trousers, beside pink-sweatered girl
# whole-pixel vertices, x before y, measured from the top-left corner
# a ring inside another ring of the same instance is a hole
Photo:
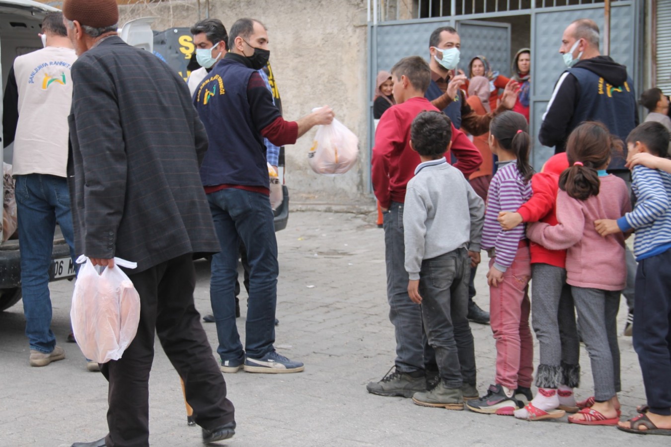
[[[566,153],[556,154],[533,176],[533,196],[516,213],[499,213],[511,230],[522,222],[557,224],[555,203],[559,177],[568,168]],[[555,419],[578,411],[573,389],[580,381],[578,330],[571,287],[566,284],[566,250],[550,250],[531,242],[531,324],[539,344],[538,393],[515,417],[529,421]]]

